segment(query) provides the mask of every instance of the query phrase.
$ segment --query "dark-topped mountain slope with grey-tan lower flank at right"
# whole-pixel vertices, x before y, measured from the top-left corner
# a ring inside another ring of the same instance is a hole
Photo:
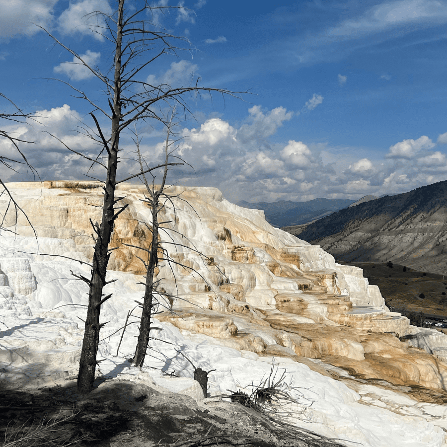
[[[369,200],[297,228],[341,261],[393,261],[447,274],[447,181]]]

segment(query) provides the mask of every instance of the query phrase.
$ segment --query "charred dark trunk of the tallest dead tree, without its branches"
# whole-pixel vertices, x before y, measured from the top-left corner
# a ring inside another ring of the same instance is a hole
[[[102,326],[99,323],[99,314],[101,311],[102,302],[109,298],[105,297],[103,299],[102,294],[102,289],[107,284],[106,272],[110,257],[108,247],[112,236],[113,224],[117,218],[117,215],[119,214],[115,214],[114,205],[116,169],[118,164],[118,148],[120,138],[119,126],[121,118],[121,42],[123,37],[123,7],[124,0],[119,0],[114,61],[114,95],[113,106],[111,107],[112,134],[110,145],[104,141],[105,149],[108,152],[107,178],[104,186],[104,205],[102,208],[101,225],[99,227],[93,225],[93,229],[96,232],[96,243],[93,254],[91,280],[89,283],[90,288],[88,292],[87,318],[85,319],[84,339],[82,341],[79,373],[77,376],[77,389],[82,393],[88,393],[91,391],[95,379],[96,355],[99,346],[99,330]]]

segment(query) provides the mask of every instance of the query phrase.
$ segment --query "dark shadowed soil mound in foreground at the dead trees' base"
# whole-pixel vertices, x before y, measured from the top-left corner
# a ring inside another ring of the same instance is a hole
[[[73,379],[27,392],[0,384],[0,399],[0,442],[8,447],[341,446],[240,403],[215,398],[199,407],[188,396],[119,379],[96,383],[86,396]]]

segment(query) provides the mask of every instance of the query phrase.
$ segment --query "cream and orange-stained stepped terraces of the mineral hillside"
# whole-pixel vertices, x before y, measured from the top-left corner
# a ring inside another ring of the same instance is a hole
[[[10,212],[7,225],[22,236],[18,245],[27,244],[20,250],[40,254],[32,262],[19,250],[0,259],[1,287],[38,315],[45,289],[33,282],[33,269],[41,260],[57,259],[53,255],[91,259],[90,220],[100,219],[102,190],[99,183],[70,181],[8,187],[33,228]],[[336,264],[319,246],[272,227],[255,210],[230,204],[215,188],[175,186],[166,192],[173,206],[160,216],[165,256],[157,273],[163,289],[158,299],[166,310],[158,320],[244,352],[320,359],[360,377],[396,384],[443,386],[446,337],[434,340],[424,333],[418,338],[419,329],[388,311],[361,269]],[[144,252],[135,248],[147,248],[151,236],[144,194],[140,186],[118,186],[128,207],[112,238],[116,249],[109,267],[117,272],[144,271],[139,259]],[[1,206],[4,213],[5,203]],[[39,236],[34,248],[33,231]],[[63,293],[59,299],[64,305],[73,302]],[[413,338],[398,338],[407,335]]]

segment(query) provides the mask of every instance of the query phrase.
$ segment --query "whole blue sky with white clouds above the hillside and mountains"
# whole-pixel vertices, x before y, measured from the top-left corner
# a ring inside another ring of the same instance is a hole
[[[135,0],[129,1],[129,4]],[[447,178],[447,0],[182,1],[159,24],[196,50],[166,57],[144,74],[158,82],[250,89],[244,101],[191,98],[195,119],[178,127],[171,182],[214,186],[231,201],[358,199],[406,192]],[[110,47],[84,14],[112,11],[112,0],[0,2],[1,93],[40,123],[0,123],[22,145],[42,179],[86,178],[88,166],[57,140],[86,153],[79,133],[91,107],[69,81],[104,101],[99,84],[36,24],[106,70]],[[7,108],[5,103],[1,106]],[[150,160],[162,132],[140,129]],[[0,141],[3,154],[12,149]],[[123,138],[121,177],[133,172]],[[127,156],[126,156],[127,154]],[[0,168],[2,180],[30,179]],[[100,172],[95,173],[101,178]]]

